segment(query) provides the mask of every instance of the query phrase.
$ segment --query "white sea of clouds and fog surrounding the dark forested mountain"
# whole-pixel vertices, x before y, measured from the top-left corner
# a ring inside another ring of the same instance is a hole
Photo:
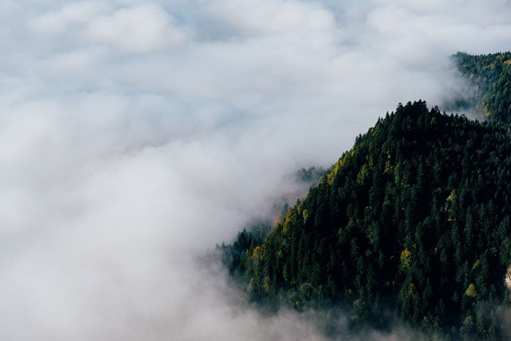
[[[0,0],[0,339],[324,340],[197,256],[398,103],[442,110],[463,90],[449,56],[508,51],[509,18],[508,0]]]

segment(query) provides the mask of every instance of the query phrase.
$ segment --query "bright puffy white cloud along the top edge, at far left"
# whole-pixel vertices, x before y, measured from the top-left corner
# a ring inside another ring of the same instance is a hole
[[[53,36],[76,30],[79,41],[104,44],[121,53],[147,53],[187,40],[174,17],[154,3],[120,8],[104,2],[72,3],[37,14],[27,26],[34,33]]]

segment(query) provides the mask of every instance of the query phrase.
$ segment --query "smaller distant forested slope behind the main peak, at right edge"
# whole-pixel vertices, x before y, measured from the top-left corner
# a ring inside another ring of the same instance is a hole
[[[471,89],[457,107],[473,111],[476,117],[511,123],[511,53],[472,56],[458,52],[453,58]]]

